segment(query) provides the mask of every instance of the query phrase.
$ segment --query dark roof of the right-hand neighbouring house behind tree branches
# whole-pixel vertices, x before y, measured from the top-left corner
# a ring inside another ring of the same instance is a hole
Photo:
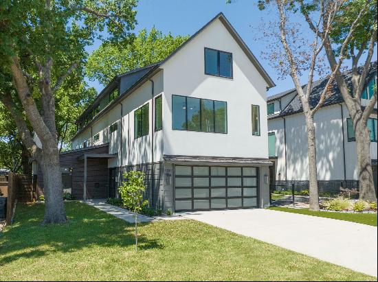
[[[351,70],[344,72],[342,75],[344,76],[346,84],[348,84],[348,88],[351,89],[352,88],[352,81],[351,81],[352,73],[351,73]],[[370,64],[370,69],[368,71],[368,75],[366,75],[365,84],[367,85],[368,82],[370,82],[370,80],[375,78],[375,75],[377,75],[377,61],[372,62]],[[322,95],[322,91],[323,91],[324,87],[326,86],[328,80],[329,80],[329,78],[327,77],[327,78],[322,78],[320,80],[316,80],[316,81],[313,82],[312,90],[310,92],[310,97],[309,97],[310,108],[315,108],[315,106],[318,104],[318,102],[320,100],[320,96]],[[302,86],[302,89],[304,91],[307,91],[307,84]],[[340,104],[340,103],[344,102],[342,94],[340,93],[340,90],[337,87],[337,83],[335,81],[331,84],[329,91],[330,91],[329,95],[326,96],[326,99],[325,99],[322,107],[331,106],[331,105],[334,105],[334,104]],[[274,95],[274,96],[276,96],[275,99],[278,99],[277,97],[283,97],[283,96],[287,95],[288,93],[293,93],[293,92],[295,92],[295,96],[293,97],[293,99],[291,99],[291,102],[289,102],[289,104],[287,104],[287,106],[281,111],[281,113],[278,114],[278,115],[268,117],[268,119],[274,119],[276,117],[284,117],[286,115],[293,115],[293,114],[296,114],[296,113],[302,113],[302,111],[303,111],[302,102],[300,102],[300,97],[299,97],[296,89],[291,89],[289,91],[278,93],[277,95]],[[268,101],[271,101],[273,99],[274,98],[268,99]]]

